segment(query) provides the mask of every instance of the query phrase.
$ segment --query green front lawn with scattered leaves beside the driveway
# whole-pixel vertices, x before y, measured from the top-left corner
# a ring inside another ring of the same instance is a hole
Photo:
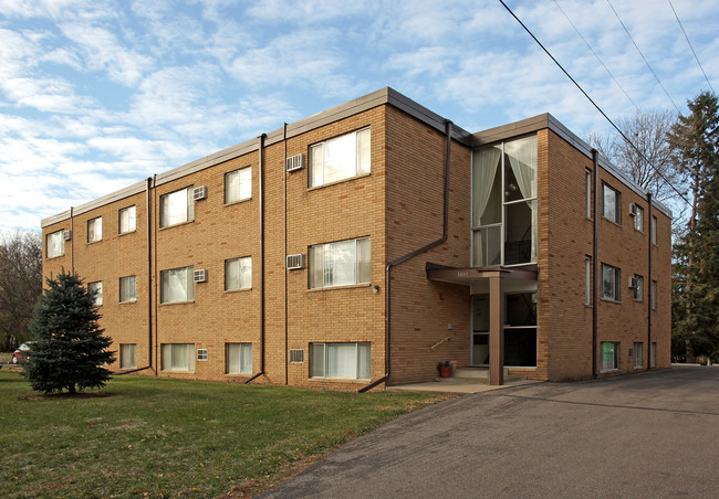
[[[122,376],[43,396],[0,371],[3,497],[253,496],[445,396]]]

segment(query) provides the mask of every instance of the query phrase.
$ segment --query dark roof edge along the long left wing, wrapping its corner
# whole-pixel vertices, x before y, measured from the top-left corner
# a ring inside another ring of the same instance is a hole
[[[410,98],[405,97],[397,91],[389,87],[384,87],[363,97],[352,99],[338,106],[331,107],[330,109],[323,110],[288,125],[288,138],[296,137],[306,131],[329,125],[334,121],[338,121],[340,119],[363,113],[383,104],[389,104],[437,130],[445,130],[445,119],[441,116],[433,113],[431,110],[417,104]],[[472,140],[471,135],[468,131],[456,125],[452,125],[452,138],[466,146],[470,146]],[[282,140],[283,127],[280,127],[265,134],[264,145],[271,146],[273,144],[281,142]],[[156,185],[171,182],[173,180],[180,179],[197,171],[205,170],[206,168],[210,168],[225,161],[229,161],[231,159],[247,155],[249,152],[257,151],[258,149],[259,140],[257,138],[246,140],[241,144],[238,144],[237,146],[222,149],[221,151],[206,156],[205,158],[197,159],[181,167],[158,173]],[[129,198],[131,195],[138,194],[145,189],[145,182],[142,181],[125,189],[121,189],[119,191],[112,192],[107,195],[103,195],[93,201],[75,206],[72,212],[74,215],[80,215],[105,204],[110,204],[115,201]],[[44,229],[48,225],[52,225],[54,223],[70,219],[70,213],[71,211],[67,210],[56,215],[49,216],[46,219],[43,219],[40,224]]]

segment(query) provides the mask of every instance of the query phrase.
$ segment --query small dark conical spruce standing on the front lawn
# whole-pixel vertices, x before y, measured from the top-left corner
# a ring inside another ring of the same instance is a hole
[[[76,274],[64,270],[46,284],[30,323],[35,343],[24,371],[32,389],[73,394],[104,386],[111,373],[103,364],[113,362],[115,354],[108,350],[112,340],[97,325],[94,294]]]

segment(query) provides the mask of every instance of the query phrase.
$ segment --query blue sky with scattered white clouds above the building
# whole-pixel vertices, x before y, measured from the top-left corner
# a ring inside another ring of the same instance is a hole
[[[686,112],[708,85],[669,2],[609,1]],[[607,0],[507,3],[611,117],[674,109]],[[719,2],[673,4],[719,88]],[[499,1],[0,0],[0,231],[385,86],[469,131],[608,128]]]

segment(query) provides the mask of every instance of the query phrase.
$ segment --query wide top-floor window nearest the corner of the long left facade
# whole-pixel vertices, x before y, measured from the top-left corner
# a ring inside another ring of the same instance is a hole
[[[310,187],[369,173],[369,128],[310,147]]]

